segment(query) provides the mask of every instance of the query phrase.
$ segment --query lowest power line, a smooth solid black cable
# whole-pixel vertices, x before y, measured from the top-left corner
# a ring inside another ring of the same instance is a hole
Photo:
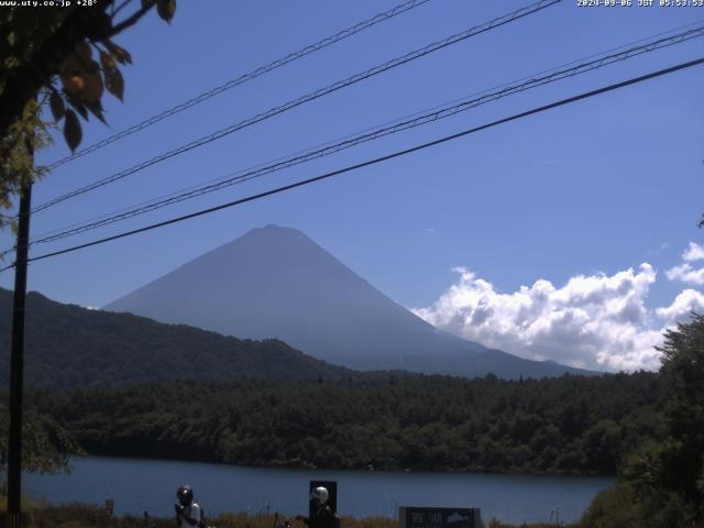
[[[260,194],[256,194],[256,195],[251,195],[251,196],[248,196],[245,198],[240,198],[238,200],[229,201],[227,204],[221,204],[219,206],[215,206],[215,207],[211,207],[211,208],[208,208],[208,209],[202,209],[200,211],[191,212],[189,215],[184,215],[184,216],[180,216],[180,217],[172,218],[169,220],[165,220],[165,221],[162,221],[162,222],[153,223],[151,226],[145,226],[143,228],[134,229],[134,230],[131,230],[131,231],[125,231],[125,232],[122,232],[122,233],[119,233],[119,234],[114,234],[112,237],[106,237],[103,239],[95,240],[92,242],[87,242],[85,244],[74,245],[72,248],[67,248],[67,249],[59,250],[59,251],[54,251],[52,253],[45,253],[43,255],[38,255],[38,256],[34,256],[32,258],[29,258],[28,261],[29,262],[40,261],[40,260],[48,258],[48,257],[52,257],[52,256],[63,255],[65,253],[72,253],[74,251],[82,250],[82,249],[90,248],[90,246],[98,245],[98,244],[103,244],[103,243],[107,243],[107,242],[111,242],[113,240],[123,239],[125,237],[131,237],[133,234],[143,233],[145,231],[151,231],[151,230],[154,230],[154,229],[157,229],[157,228],[163,228],[163,227],[169,226],[172,223],[177,223],[177,222],[182,222],[182,221],[185,221],[185,220],[189,220],[191,218],[200,217],[200,216],[204,216],[204,215],[209,215],[211,212],[219,211],[221,209],[228,209],[228,208],[231,208],[231,207],[240,206],[242,204],[246,204],[246,202],[250,202],[250,201],[258,200],[261,198],[266,198],[268,196],[277,195],[277,194],[284,193],[286,190],[292,190],[292,189],[295,189],[295,188],[298,188],[298,187],[302,187],[302,186],[306,186],[306,185],[309,185],[309,184],[314,184],[314,183],[317,183],[317,182],[321,182],[323,179],[331,178],[333,176],[339,176],[339,175],[344,174],[344,173],[356,170],[356,169],[360,169],[360,168],[363,168],[363,167],[367,167],[367,166],[371,166],[371,165],[376,165],[378,163],[386,162],[386,161],[389,161],[389,160],[394,160],[396,157],[405,156],[407,154],[411,154],[411,153],[417,152],[417,151],[422,151],[422,150],[429,148],[431,146],[437,146],[439,144],[447,143],[449,141],[453,141],[453,140],[457,140],[459,138],[463,138],[465,135],[470,135],[470,134],[480,132],[482,130],[486,130],[486,129],[491,129],[491,128],[497,127],[499,124],[504,124],[504,123],[508,123],[510,121],[516,121],[518,119],[527,118],[529,116],[534,116],[534,114],[537,114],[537,113],[540,113],[540,112],[544,112],[544,111],[551,110],[553,108],[562,107],[562,106],[565,106],[565,105],[570,105],[572,102],[581,101],[583,99],[588,99],[588,98],[592,98],[592,97],[595,97],[595,96],[598,96],[598,95],[602,95],[602,94],[606,94],[608,91],[614,91],[614,90],[617,90],[617,89],[620,89],[620,88],[625,88],[627,86],[636,85],[638,82],[644,82],[644,81],[649,80],[649,79],[661,77],[663,75],[672,74],[674,72],[679,72],[679,70],[682,70],[682,69],[686,69],[686,68],[691,68],[691,67],[694,67],[694,66],[698,66],[701,64],[704,64],[704,57],[700,57],[697,59],[690,61],[688,63],[678,64],[675,66],[671,66],[671,67],[666,68],[666,69],[660,69],[658,72],[652,72],[650,74],[641,75],[639,77],[634,77],[634,78],[630,78],[628,80],[623,80],[620,82],[608,85],[608,86],[605,86],[605,87],[602,87],[602,88],[598,88],[598,89],[595,89],[595,90],[582,92],[580,95],[576,95],[576,96],[573,96],[573,97],[569,97],[566,99],[561,99],[559,101],[551,102],[551,103],[544,105],[542,107],[534,108],[534,109],[527,110],[525,112],[513,114],[513,116],[510,116],[508,118],[503,118],[503,119],[499,119],[497,121],[493,121],[491,123],[486,123],[486,124],[483,124],[483,125],[480,125],[480,127],[474,127],[472,129],[468,129],[468,130],[464,130],[462,132],[458,132],[458,133],[454,133],[454,134],[451,134],[451,135],[446,135],[444,138],[440,138],[438,140],[430,141],[428,143],[422,143],[422,144],[419,144],[419,145],[416,145],[416,146],[411,146],[411,147],[405,148],[403,151],[397,151],[397,152],[394,152],[392,154],[387,154],[387,155],[382,156],[382,157],[367,160],[366,162],[358,163],[355,165],[350,165],[348,167],[340,168],[338,170],[332,170],[330,173],[326,173],[326,174],[322,174],[320,176],[316,176],[316,177],[312,177],[312,178],[308,178],[308,179],[304,179],[304,180],[300,180],[300,182],[296,182],[294,184],[285,185],[285,186],[282,186],[282,187],[277,187],[275,189],[271,189],[271,190],[267,190],[267,191],[264,191],[264,193],[260,193]],[[14,266],[14,264],[6,266],[2,270],[0,270],[0,272],[9,270],[9,268],[11,268],[13,266]]]

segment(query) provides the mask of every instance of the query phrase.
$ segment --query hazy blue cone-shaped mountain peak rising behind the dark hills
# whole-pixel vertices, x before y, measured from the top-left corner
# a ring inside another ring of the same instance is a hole
[[[499,377],[591,374],[521,360],[440,331],[394,302],[300,231],[254,229],[109,304],[162,322],[277,338],[362,371]]]

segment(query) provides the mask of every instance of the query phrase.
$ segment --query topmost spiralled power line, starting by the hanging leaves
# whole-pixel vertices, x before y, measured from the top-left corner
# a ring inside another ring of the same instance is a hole
[[[237,77],[234,79],[228,80],[227,82],[217,86],[216,88],[212,88],[211,90],[205,91],[202,94],[200,94],[199,96],[196,96],[191,99],[188,99],[187,101],[182,102],[180,105],[177,105],[173,108],[169,108],[168,110],[164,110],[163,112],[153,116],[148,119],[145,119],[144,121],[134,124],[128,129],[121,130],[120,132],[117,132],[112,135],[110,135],[109,138],[106,138],[105,140],[101,140],[97,143],[94,143],[92,145],[86,146],[85,148],[81,148],[80,151],[66,156],[62,160],[57,160],[56,162],[50,164],[46,168],[48,170],[53,170],[57,167],[59,167],[61,165],[64,165],[68,162],[72,162],[74,160],[77,160],[79,157],[82,157],[87,154],[90,154],[92,152],[96,152],[100,148],[102,148],[103,146],[107,146],[111,143],[114,143],[116,141],[122,140],[123,138],[127,138],[129,135],[135,134],[144,129],[150,128],[151,125],[158,123],[160,121],[163,121],[166,118],[169,118],[178,112],[182,112],[184,110],[187,110],[191,107],[195,107],[196,105],[199,105],[215,96],[218,96],[220,94],[222,94],[223,91],[227,91],[231,88],[234,88],[237,86],[243,85],[244,82],[248,82],[252,79],[255,79],[256,77],[260,77],[261,75],[267,74],[270,72],[273,72],[277,68],[280,68],[282,66],[285,66],[289,63],[293,63],[294,61],[297,61],[299,58],[302,58],[307,55],[310,55],[315,52],[318,52],[320,50],[323,50],[332,44],[336,44],[340,41],[343,41],[344,38],[348,38],[352,35],[355,35],[356,33],[360,33],[364,30],[367,30],[369,28],[372,28],[381,22],[386,22],[387,20],[393,19],[394,16],[397,16],[402,13],[405,13],[407,11],[410,11],[411,9],[415,9],[419,6],[422,6],[424,3],[428,3],[430,0],[409,0],[405,3],[400,3],[398,6],[396,6],[393,9],[389,9],[388,11],[384,11],[383,13],[377,13],[374,16],[372,16],[371,19],[364,20],[362,22],[359,22],[356,24],[354,24],[351,28],[348,28],[345,30],[342,30],[338,33],[336,33],[334,35],[328,36],[326,38],[322,38],[318,42],[316,42],[315,44],[310,44],[306,47],[302,47],[300,50],[298,50],[297,52],[290,53],[284,57],[277,58],[276,61],[271,62],[270,64],[267,64],[266,66],[260,66],[256,69],[253,69],[252,72],[248,73],[248,74],[243,74],[240,77]]]

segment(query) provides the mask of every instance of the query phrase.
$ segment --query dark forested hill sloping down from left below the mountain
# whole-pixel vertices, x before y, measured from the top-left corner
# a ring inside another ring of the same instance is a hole
[[[9,384],[12,293],[0,288],[0,385]],[[278,340],[223,337],[130,314],[63,305],[30,293],[26,385],[66,388],[238,377],[315,381],[359,378]]]

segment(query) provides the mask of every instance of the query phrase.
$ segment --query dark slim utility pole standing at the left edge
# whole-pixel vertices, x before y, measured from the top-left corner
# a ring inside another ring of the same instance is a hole
[[[32,141],[28,151],[33,158]],[[32,160],[33,161],[33,160]],[[18,217],[14,261],[14,304],[12,307],[12,355],[10,360],[10,438],[8,444],[8,528],[21,528],[22,519],[22,394],[24,388],[24,304],[30,240],[32,183],[22,187]]]

